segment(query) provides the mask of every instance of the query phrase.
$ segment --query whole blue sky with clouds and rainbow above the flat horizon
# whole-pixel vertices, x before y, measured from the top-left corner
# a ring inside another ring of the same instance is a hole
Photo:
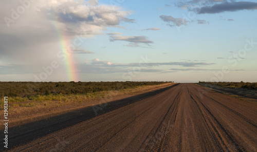
[[[256,82],[257,3],[0,0],[0,81]]]

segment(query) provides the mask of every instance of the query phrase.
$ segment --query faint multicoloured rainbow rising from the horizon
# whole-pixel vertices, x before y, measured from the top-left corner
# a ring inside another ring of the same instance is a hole
[[[75,56],[74,56],[74,53],[69,52],[73,50],[68,50],[68,48],[70,48],[69,39],[68,37],[66,37],[66,34],[58,28],[57,21],[54,20],[54,17],[52,15],[49,15],[49,16],[51,19],[51,24],[53,25],[54,29],[57,32],[57,36],[60,43],[60,50],[66,56],[66,59],[64,60],[64,64],[65,64],[65,70],[67,73],[67,80],[78,82],[79,79],[77,75],[77,67],[75,64]]]

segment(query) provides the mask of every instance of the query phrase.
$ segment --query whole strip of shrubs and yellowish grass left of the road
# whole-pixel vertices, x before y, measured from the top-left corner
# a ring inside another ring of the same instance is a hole
[[[165,83],[170,82],[0,82],[0,96],[8,97],[11,107],[48,106],[53,102],[61,105],[104,98],[112,91]]]

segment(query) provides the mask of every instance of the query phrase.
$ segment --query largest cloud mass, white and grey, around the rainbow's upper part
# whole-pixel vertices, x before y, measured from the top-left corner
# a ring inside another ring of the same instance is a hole
[[[20,6],[20,1],[1,1],[0,54],[6,59],[1,62],[32,65],[30,68],[35,71],[42,71],[42,67],[51,65],[52,61],[57,61],[60,69],[65,70],[62,68],[65,61],[60,58],[64,55],[60,54],[62,47],[70,50],[71,53],[66,54],[70,58],[78,53],[93,53],[81,49],[84,39],[103,34],[107,27],[134,21],[127,18],[132,11],[100,5],[96,0],[38,0],[30,2],[30,7],[13,19],[12,9],[17,12]]]

